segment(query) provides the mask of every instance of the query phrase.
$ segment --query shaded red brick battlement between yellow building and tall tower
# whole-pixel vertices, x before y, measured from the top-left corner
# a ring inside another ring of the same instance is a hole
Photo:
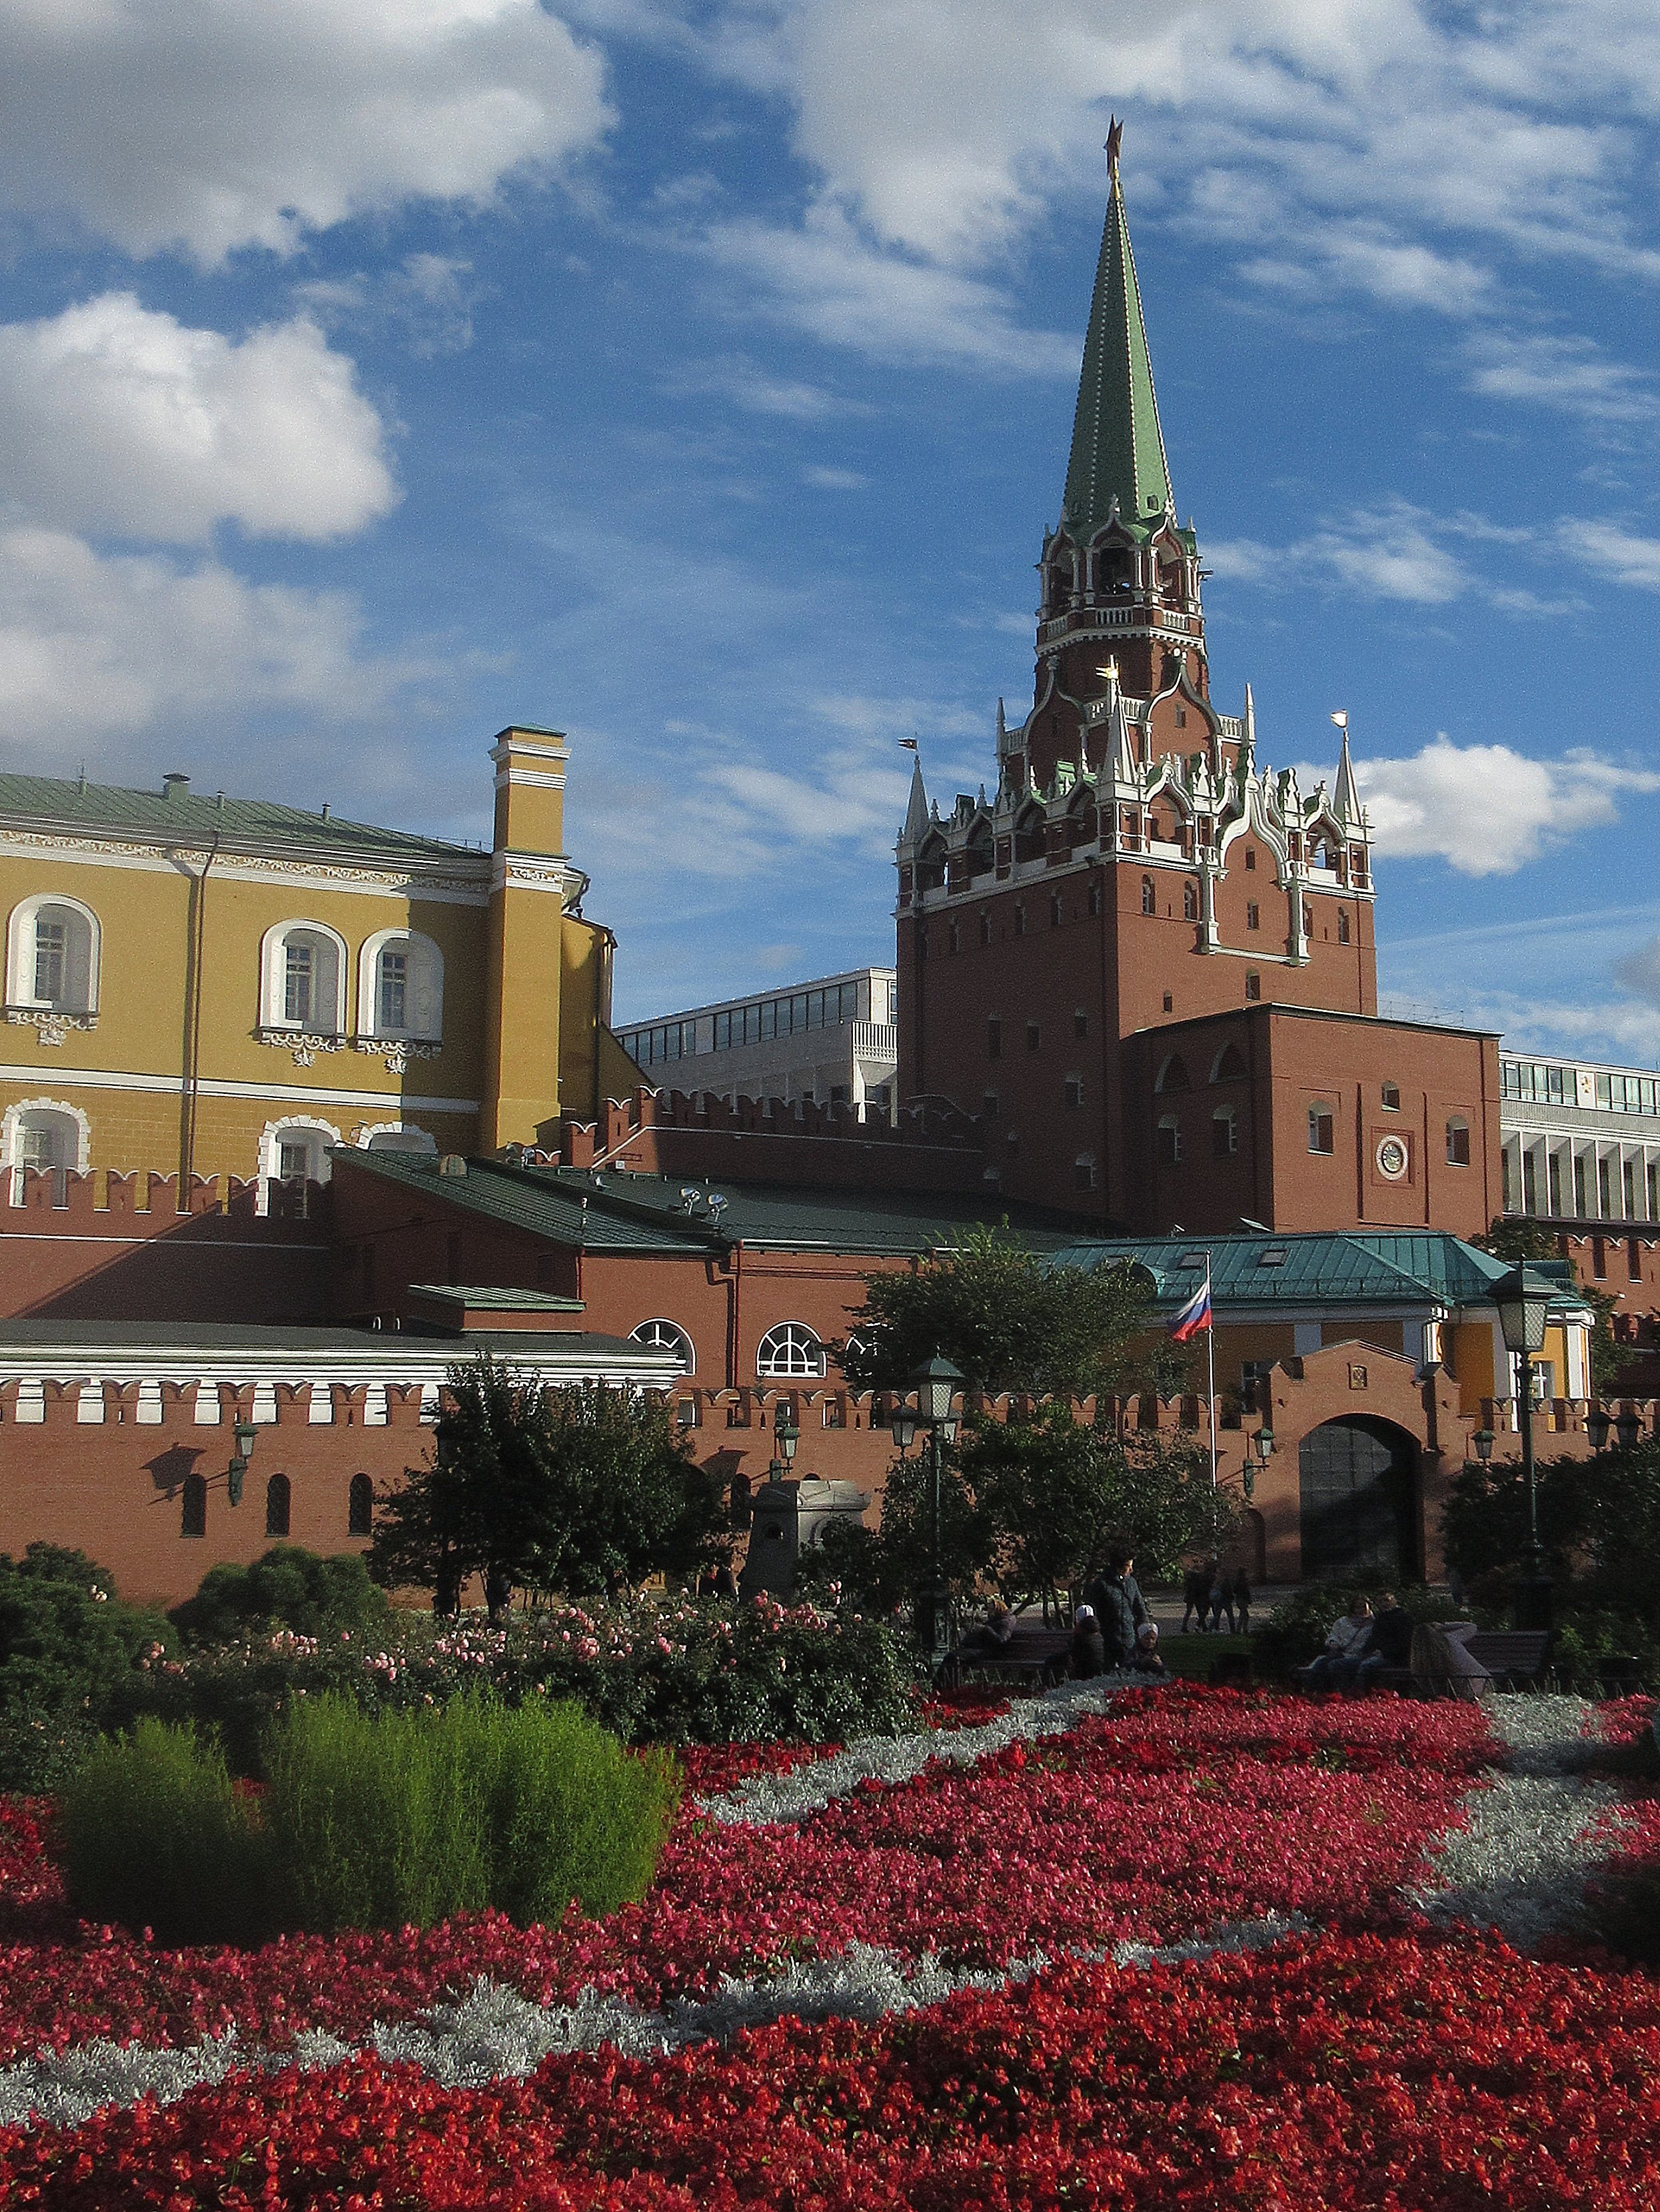
[[[779,1183],[983,1190],[981,1126],[945,1099],[901,1106],[899,1121],[861,1119],[848,1104],[653,1091],[609,1099],[600,1121],[562,1117],[525,1157],[564,1168],[644,1175],[733,1175]]]

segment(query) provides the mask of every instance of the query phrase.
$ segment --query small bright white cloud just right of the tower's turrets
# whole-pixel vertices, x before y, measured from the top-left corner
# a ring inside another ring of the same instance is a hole
[[[1319,770],[1301,770],[1315,779]],[[1512,876],[1585,830],[1618,821],[1618,799],[1660,792],[1660,774],[1594,752],[1534,761],[1512,745],[1436,737],[1405,761],[1355,761],[1386,860],[1439,858],[1461,876]]]

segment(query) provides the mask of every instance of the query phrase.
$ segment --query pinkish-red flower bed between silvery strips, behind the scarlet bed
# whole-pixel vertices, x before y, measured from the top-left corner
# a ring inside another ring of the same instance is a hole
[[[1065,1739],[932,1763],[799,1823],[715,1827],[688,1807],[651,1896],[606,1922],[520,1931],[485,1913],[259,1951],[159,1951],[117,1929],[64,1940],[24,1814],[11,1876],[49,1918],[0,1942],[0,2062],[228,2026],[274,2048],[308,2026],[361,2039],[478,1975],[536,2002],[595,1984],[657,2004],[852,1942],[998,1966],[1270,1909],[1366,1918],[1448,1825],[1485,1741],[1463,1705],[1149,1692]]]

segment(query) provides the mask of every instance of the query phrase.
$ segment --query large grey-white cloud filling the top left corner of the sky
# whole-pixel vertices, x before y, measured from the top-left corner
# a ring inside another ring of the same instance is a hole
[[[0,4],[0,206],[131,254],[478,206],[609,122],[602,58],[538,0]]]

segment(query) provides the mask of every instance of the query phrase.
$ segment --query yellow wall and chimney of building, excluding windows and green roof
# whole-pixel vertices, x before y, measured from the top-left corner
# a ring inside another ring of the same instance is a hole
[[[173,1175],[188,1157],[197,1175],[252,1177],[263,1133],[288,1119],[328,1124],[347,1144],[407,1121],[438,1150],[494,1150],[533,1141],[560,1110],[562,1055],[580,1110],[591,1110],[595,1068],[615,1086],[611,1062],[622,1062],[626,1086],[633,1064],[600,1029],[611,936],[564,911],[582,883],[560,852],[569,748],[556,732],[507,730],[491,759],[494,856],[456,847],[454,863],[434,856],[407,876],[374,854],[345,863],[321,821],[314,852],[294,836],[281,856],[226,847],[208,858],[199,814],[181,825],[177,849],[115,825],[0,832],[2,918],[24,898],[55,894],[91,907],[102,931],[97,1024],[51,1044],[51,1031],[9,1022],[0,1113],[24,1099],[77,1108],[91,1126],[91,1166]],[[423,887],[423,869],[443,883]],[[299,1060],[297,1042],[257,1035],[261,945],[281,922],[317,922],[345,942],[345,1035],[334,1048],[299,1046]],[[392,1040],[372,1037],[356,1048],[374,1011],[359,1006],[359,956],[387,929],[418,931],[443,956],[436,1051],[398,1055]],[[197,1082],[208,1086],[197,1088],[195,1113],[186,1108],[193,1029]]]

